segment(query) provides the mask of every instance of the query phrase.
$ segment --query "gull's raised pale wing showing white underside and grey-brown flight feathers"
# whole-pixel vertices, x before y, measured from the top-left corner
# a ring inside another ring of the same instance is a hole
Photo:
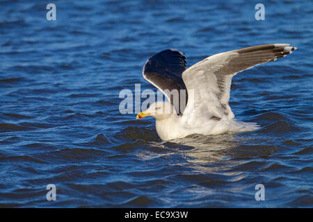
[[[188,90],[186,121],[214,118],[232,119],[228,105],[232,76],[255,65],[287,56],[296,47],[289,44],[264,44],[219,53],[189,67],[182,74]]]

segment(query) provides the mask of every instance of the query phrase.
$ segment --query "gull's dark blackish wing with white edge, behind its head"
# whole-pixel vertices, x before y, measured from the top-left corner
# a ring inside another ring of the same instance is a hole
[[[185,69],[186,57],[177,49],[167,49],[155,54],[143,67],[143,77],[166,95],[178,114],[184,112],[188,100],[182,79]]]

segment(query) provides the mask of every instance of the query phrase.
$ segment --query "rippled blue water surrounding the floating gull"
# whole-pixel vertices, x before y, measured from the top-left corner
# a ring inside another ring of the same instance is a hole
[[[313,207],[312,1],[1,1],[0,207]],[[162,142],[120,114],[145,60],[187,65],[246,46],[286,58],[233,78],[230,106],[257,131]],[[46,186],[56,185],[56,201]],[[255,185],[265,200],[255,200]]]

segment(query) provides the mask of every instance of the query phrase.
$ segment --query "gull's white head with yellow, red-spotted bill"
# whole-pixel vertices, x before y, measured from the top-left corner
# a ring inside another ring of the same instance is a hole
[[[175,108],[168,102],[158,101],[152,103],[147,110],[138,113],[136,119],[142,119],[143,117],[152,116],[155,119],[165,119],[176,115],[177,112]]]

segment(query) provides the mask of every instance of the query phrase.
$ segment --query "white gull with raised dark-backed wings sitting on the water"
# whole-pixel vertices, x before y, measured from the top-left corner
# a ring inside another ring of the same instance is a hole
[[[157,53],[145,62],[143,77],[157,87],[169,102],[157,101],[137,119],[152,116],[163,140],[187,135],[243,133],[256,123],[234,119],[228,105],[232,77],[256,65],[275,61],[296,50],[289,44],[264,44],[209,56],[186,69],[186,57],[177,49]],[[180,93],[175,99],[172,92]],[[182,96],[184,95],[184,96]]]

